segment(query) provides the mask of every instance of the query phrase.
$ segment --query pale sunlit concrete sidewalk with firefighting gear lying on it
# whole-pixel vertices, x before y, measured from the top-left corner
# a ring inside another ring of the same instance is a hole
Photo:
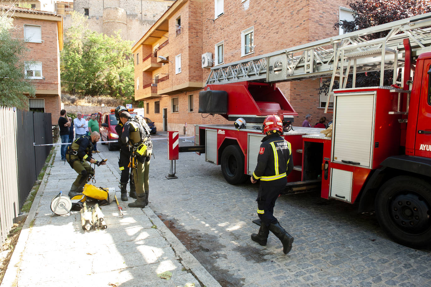
[[[119,201],[124,218],[118,218],[115,201],[101,207],[108,225],[105,230],[82,230],[79,211],[51,215],[51,200],[60,190],[67,194],[77,176],[67,162],[60,161],[59,147],[22,228],[2,287],[220,286],[149,207],[129,208],[131,198]],[[104,158],[103,152],[94,158]],[[108,161],[96,167],[94,185],[118,189],[116,165]],[[160,277],[166,277],[160,275],[166,271],[172,274],[169,280]]]

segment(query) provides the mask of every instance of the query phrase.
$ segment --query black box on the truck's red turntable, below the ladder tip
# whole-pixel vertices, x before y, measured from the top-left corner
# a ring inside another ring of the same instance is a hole
[[[226,91],[200,91],[199,113],[203,114],[227,114],[228,93]]]

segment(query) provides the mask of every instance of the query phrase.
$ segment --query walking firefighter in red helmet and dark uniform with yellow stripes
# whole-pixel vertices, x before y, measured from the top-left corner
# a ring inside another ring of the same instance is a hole
[[[290,143],[281,137],[283,123],[277,115],[266,117],[263,122],[263,133],[256,169],[250,178],[252,183],[260,180],[257,196],[257,214],[261,225],[259,232],[253,233],[251,239],[262,246],[266,245],[269,231],[274,233],[283,244],[283,252],[292,249],[294,238],[281,227],[274,217],[274,206],[287,183],[287,175],[293,170],[292,149]]]

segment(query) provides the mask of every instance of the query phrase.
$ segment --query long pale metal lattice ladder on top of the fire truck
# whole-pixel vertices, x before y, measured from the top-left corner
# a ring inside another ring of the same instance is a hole
[[[403,40],[409,39],[412,56],[431,51],[431,13],[389,22],[344,35],[279,50],[262,56],[240,60],[211,68],[206,84],[242,81],[286,82],[300,79],[331,77],[329,91],[335,79],[340,88],[346,87],[349,73],[380,71],[383,85],[384,70],[394,69],[396,75],[404,65]],[[385,37],[366,40],[381,32]],[[353,62],[353,63],[352,63]],[[328,110],[329,98],[326,101]]]

